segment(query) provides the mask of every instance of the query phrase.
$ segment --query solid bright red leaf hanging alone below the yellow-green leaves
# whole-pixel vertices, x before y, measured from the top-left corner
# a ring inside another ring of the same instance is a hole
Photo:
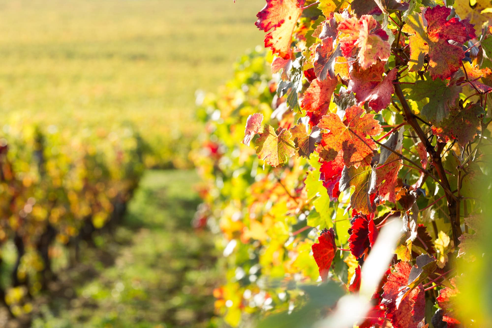
[[[323,281],[328,278],[328,271],[332,265],[337,246],[335,245],[335,231],[324,229],[318,237],[318,242],[312,245],[312,255],[318,265],[319,275]]]

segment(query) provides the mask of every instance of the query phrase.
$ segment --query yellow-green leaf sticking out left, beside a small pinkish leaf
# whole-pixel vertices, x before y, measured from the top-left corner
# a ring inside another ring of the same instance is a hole
[[[265,124],[263,133],[255,142],[256,155],[268,165],[275,167],[284,165],[296,153],[291,137],[289,130],[279,128],[277,134],[271,125]]]

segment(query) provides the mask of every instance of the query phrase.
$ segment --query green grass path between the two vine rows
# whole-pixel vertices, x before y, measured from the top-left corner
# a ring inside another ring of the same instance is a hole
[[[196,179],[148,171],[123,226],[59,273],[52,295],[34,305],[33,327],[210,327],[219,278],[212,235],[190,225]]]

